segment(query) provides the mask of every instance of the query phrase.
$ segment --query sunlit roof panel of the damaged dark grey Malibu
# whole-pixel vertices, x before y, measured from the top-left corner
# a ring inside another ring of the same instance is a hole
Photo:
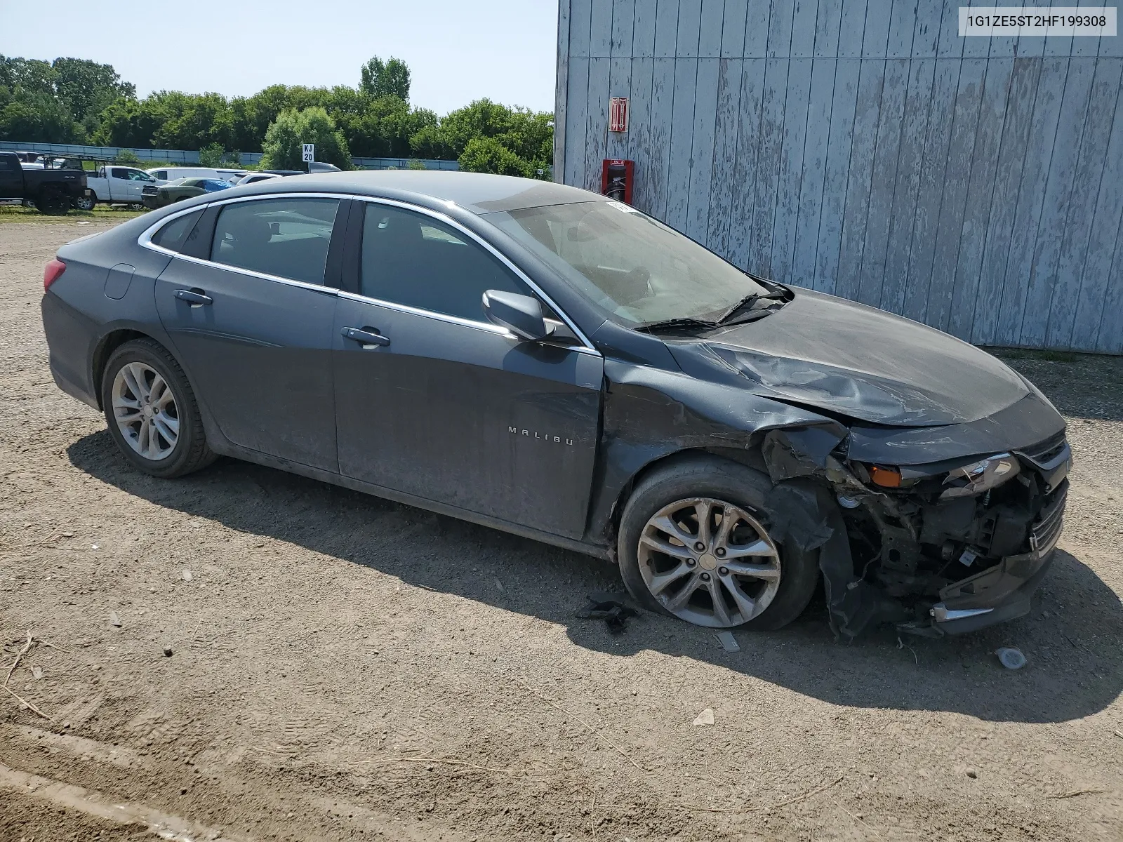
[[[608,201],[606,196],[535,179],[440,170],[367,170],[266,179],[236,187],[239,193],[355,193],[459,205],[474,213],[537,208],[546,204]]]

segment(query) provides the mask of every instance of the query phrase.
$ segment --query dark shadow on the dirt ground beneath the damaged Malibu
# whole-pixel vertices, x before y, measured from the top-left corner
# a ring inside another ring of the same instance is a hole
[[[157,505],[557,623],[575,644],[614,656],[654,650],[832,704],[988,721],[1076,720],[1103,711],[1123,690],[1123,606],[1063,550],[1030,615],[975,634],[932,640],[882,628],[838,642],[816,598],[779,632],[738,631],[740,651],[729,652],[710,630],[647,612],[619,634],[577,619],[587,594],[623,592],[615,569],[592,557],[232,459],[181,479],[155,479],[133,468],[104,431],[75,441],[67,454],[81,470]],[[994,655],[1001,646],[1020,648],[1029,666],[1004,669]]]

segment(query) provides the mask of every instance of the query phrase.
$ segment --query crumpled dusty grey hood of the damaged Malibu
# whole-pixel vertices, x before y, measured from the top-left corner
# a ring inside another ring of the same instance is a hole
[[[668,345],[681,363],[688,349],[720,360],[754,394],[878,424],[976,421],[1029,394],[1013,369],[967,342],[798,287],[767,318]]]

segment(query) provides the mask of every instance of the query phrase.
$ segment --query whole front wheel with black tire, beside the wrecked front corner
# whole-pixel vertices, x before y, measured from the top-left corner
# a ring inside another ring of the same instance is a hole
[[[657,468],[636,486],[620,519],[617,558],[628,592],[650,611],[707,628],[774,631],[791,623],[819,583],[819,552],[768,536],[776,522],[767,506],[772,487],[766,475],[714,456],[692,455]],[[710,529],[700,536],[703,511]],[[727,516],[732,536],[722,543]],[[657,518],[677,531],[660,530]],[[703,549],[676,534],[704,539]]]

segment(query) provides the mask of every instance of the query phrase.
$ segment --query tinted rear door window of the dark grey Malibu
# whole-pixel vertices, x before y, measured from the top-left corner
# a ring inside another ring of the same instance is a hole
[[[222,208],[211,260],[323,284],[338,199],[258,199]]]

